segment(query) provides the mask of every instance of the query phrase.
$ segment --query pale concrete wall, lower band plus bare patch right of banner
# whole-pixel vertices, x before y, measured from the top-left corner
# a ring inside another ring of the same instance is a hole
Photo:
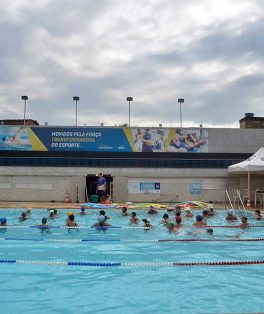
[[[208,129],[209,153],[254,153],[264,145],[264,129]],[[246,175],[229,176],[227,169],[169,168],[69,168],[69,167],[0,167],[0,200],[2,201],[63,201],[69,190],[72,200],[84,202],[87,173],[108,173],[113,176],[114,201],[151,201],[154,196],[129,194],[128,180],[150,180],[161,183],[161,200],[175,194],[181,200],[224,201],[224,190],[245,188]],[[190,184],[202,184],[201,194],[190,194]],[[264,187],[264,177],[252,178],[252,193]],[[253,197],[253,195],[251,196]]]

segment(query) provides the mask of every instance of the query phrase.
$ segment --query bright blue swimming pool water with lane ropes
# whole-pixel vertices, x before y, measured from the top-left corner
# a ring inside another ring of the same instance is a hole
[[[3,312],[263,311],[262,264],[215,265],[217,262],[263,260],[264,241],[257,241],[261,238],[262,227],[249,228],[239,238],[225,237],[239,234],[241,230],[238,228],[214,228],[213,237],[194,237],[187,234],[192,228],[184,228],[180,234],[169,234],[159,224],[165,211],[152,216],[156,227],[145,231],[129,225],[129,217],[121,216],[120,211],[108,210],[111,223],[118,228],[95,230],[90,226],[96,221],[98,210],[87,210],[86,216],[76,215],[77,222],[83,227],[79,231],[51,228],[51,233],[46,233],[30,227],[48,216],[46,209],[33,210],[32,219],[19,223],[17,217],[21,211],[2,209],[0,214],[7,216],[9,224],[18,224],[0,230],[0,259],[18,261],[0,264]],[[78,213],[77,209],[72,211]],[[58,210],[58,213],[58,218],[49,221],[54,227],[62,227],[65,223],[66,211]],[[207,223],[238,224],[226,223],[223,220],[225,213],[218,211]],[[140,219],[148,217],[144,210],[138,211],[137,215]],[[251,224],[262,225],[261,221],[253,219],[251,212],[247,215]],[[190,226],[193,219],[186,218],[183,223]],[[190,241],[193,238],[209,241]],[[256,241],[242,241],[246,239]],[[68,262],[81,262],[85,266],[69,265]],[[175,262],[209,264],[173,266]]]

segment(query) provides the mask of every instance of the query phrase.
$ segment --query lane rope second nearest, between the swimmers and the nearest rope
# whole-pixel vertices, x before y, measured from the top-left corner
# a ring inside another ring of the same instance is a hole
[[[37,238],[0,238],[0,241],[35,241],[35,242],[64,242],[64,243],[88,243],[88,242],[133,242],[133,243],[184,243],[184,242],[261,242],[264,238],[245,238],[245,239],[37,239]]]

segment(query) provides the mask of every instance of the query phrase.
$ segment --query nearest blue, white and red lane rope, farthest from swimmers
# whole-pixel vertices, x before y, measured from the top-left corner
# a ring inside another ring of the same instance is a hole
[[[191,267],[191,266],[242,266],[263,265],[260,261],[219,261],[219,262],[87,262],[87,261],[48,261],[48,260],[20,260],[1,259],[0,264],[36,264],[50,266],[86,266],[86,267]]]

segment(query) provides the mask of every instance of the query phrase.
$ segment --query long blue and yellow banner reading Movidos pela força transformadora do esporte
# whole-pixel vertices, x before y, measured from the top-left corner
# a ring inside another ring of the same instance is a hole
[[[208,131],[175,128],[1,126],[0,150],[208,152]]]

